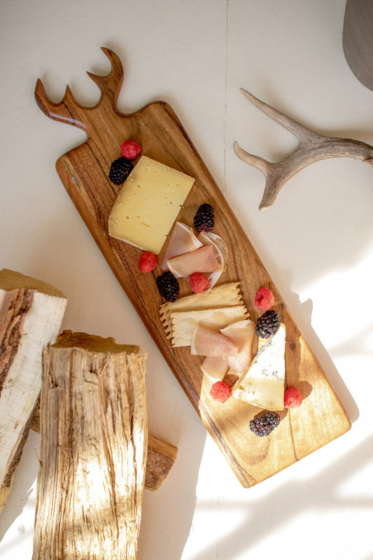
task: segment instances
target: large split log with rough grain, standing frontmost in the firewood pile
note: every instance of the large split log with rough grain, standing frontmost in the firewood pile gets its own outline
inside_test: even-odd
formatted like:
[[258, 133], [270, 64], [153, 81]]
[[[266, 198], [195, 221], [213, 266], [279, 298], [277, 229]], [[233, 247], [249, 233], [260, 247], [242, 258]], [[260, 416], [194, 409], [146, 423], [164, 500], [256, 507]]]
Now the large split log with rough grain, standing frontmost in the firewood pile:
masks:
[[84, 333], [44, 349], [33, 560], [137, 558], [145, 362], [139, 346]]

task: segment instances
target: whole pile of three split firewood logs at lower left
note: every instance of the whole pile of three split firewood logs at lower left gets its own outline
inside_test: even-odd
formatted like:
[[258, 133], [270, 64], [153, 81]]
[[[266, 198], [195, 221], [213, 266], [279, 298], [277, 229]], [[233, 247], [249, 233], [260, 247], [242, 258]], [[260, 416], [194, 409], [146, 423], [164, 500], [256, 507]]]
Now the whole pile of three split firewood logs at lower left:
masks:
[[58, 335], [66, 303], [47, 283], [0, 271], [0, 513], [33, 428], [33, 560], [135, 560], [143, 489], [159, 488], [178, 450], [148, 435], [139, 346]]

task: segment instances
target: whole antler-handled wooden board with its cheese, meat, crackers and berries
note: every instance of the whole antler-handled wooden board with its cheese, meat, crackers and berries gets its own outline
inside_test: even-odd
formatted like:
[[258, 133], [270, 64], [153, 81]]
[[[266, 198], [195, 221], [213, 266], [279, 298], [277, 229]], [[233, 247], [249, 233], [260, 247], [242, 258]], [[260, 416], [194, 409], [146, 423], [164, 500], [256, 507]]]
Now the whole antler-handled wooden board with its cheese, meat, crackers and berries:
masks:
[[[66, 88], [46, 116], [79, 127], [57, 172], [123, 290], [243, 486], [351, 427], [230, 205], [165, 102], [120, 113], [120, 59], [94, 107]], [[258, 437], [265, 436], [265, 437]]]

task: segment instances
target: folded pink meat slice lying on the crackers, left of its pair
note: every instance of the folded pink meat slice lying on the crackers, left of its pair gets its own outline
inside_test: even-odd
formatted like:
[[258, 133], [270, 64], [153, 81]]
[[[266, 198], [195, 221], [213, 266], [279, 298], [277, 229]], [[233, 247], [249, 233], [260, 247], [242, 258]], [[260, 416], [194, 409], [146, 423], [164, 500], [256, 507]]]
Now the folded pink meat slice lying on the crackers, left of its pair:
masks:
[[195, 328], [190, 347], [190, 353], [193, 355], [228, 358], [236, 356], [237, 352], [237, 344], [217, 330], [200, 323]]

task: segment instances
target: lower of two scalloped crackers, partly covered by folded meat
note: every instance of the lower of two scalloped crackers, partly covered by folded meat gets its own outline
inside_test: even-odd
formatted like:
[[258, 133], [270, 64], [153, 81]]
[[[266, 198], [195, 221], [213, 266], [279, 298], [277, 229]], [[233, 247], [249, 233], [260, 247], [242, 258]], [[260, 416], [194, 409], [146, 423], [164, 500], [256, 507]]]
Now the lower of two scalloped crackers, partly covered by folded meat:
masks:
[[220, 330], [230, 323], [242, 321], [248, 317], [245, 305], [217, 309], [199, 309], [198, 311], [177, 311], [171, 313], [172, 346], [190, 346], [193, 333], [198, 323]]

